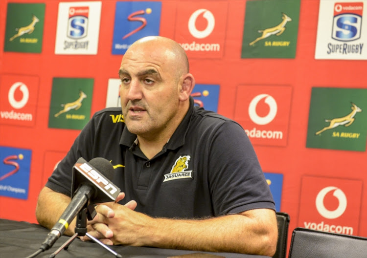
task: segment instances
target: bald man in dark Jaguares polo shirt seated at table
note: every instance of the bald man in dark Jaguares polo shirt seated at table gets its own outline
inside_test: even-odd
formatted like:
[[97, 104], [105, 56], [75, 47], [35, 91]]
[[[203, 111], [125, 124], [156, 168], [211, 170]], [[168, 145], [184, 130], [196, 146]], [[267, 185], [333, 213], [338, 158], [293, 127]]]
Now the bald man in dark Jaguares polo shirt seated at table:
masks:
[[194, 106], [184, 49], [142, 38], [118, 74], [124, 123], [111, 119], [119, 108], [93, 115], [39, 195], [39, 223], [51, 228], [68, 206], [76, 160], [104, 157], [122, 193], [88, 221], [103, 243], [273, 256], [275, 204], [256, 154], [240, 125]]

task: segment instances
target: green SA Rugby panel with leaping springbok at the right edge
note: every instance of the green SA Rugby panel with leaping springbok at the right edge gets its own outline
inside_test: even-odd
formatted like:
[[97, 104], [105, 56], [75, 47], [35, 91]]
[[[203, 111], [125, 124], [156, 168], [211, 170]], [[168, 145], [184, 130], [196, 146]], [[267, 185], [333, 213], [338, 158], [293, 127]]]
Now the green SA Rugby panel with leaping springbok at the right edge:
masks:
[[367, 89], [313, 87], [307, 148], [366, 151]]

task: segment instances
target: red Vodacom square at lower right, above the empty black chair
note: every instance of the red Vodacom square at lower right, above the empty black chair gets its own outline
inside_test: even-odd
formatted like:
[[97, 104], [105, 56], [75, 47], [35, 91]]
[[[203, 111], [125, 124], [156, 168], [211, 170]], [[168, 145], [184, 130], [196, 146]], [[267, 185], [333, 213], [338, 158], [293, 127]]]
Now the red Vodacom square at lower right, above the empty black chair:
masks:
[[358, 235], [362, 180], [303, 176], [298, 226]]

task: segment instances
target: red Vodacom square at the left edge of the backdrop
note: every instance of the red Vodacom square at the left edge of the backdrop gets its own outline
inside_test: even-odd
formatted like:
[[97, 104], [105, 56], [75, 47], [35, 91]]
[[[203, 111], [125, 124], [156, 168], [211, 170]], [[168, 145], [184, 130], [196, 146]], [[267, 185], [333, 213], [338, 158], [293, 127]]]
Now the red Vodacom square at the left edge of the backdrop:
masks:
[[2, 75], [0, 81], [0, 123], [34, 126], [39, 78]]

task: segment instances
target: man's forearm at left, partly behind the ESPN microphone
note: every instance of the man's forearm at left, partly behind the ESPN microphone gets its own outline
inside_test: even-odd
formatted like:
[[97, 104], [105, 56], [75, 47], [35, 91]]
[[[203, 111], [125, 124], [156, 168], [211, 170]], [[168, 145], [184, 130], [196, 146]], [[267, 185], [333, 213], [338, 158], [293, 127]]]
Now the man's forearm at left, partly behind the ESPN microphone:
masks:
[[[71, 198], [65, 194], [60, 194], [44, 187], [38, 197], [36, 207], [36, 218], [40, 225], [51, 229], [65, 209], [68, 207]], [[65, 235], [74, 234], [75, 219], [70, 223]]]

